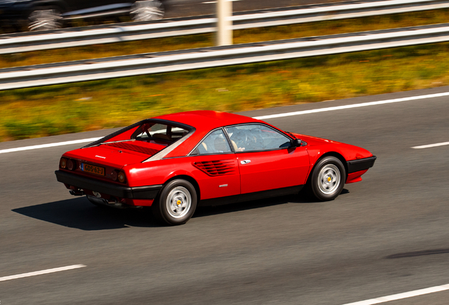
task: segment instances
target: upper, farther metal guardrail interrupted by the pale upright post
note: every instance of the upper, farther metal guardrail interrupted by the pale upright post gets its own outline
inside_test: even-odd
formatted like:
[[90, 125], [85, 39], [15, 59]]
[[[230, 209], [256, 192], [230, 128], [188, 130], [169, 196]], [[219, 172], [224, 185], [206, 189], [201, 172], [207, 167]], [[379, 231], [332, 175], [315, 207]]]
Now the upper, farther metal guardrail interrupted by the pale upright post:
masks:
[[[449, 8], [449, 0], [388, 0], [367, 1], [364, 3], [348, 1], [337, 4], [271, 8], [234, 13], [232, 22], [233, 29], [239, 30], [390, 13], [425, 11], [436, 8]], [[27, 32], [0, 35], [0, 54], [202, 34], [215, 32], [216, 23], [217, 19], [213, 16], [202, 16], [200, 18], [164, 19], [150, 23], [122, 23], [68, 28], [45, 31], [39, 34]]]

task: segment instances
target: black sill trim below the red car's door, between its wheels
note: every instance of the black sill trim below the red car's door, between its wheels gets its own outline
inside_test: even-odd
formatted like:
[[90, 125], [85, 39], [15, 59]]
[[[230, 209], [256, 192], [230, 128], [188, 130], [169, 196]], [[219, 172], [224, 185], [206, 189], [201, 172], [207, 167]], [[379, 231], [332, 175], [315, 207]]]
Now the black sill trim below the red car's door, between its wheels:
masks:
[[285, 196], [290, 195], [294, 193], [299, 193], [301, 189], [303, 188], [303, 185], [300, 186], [289, 186], [282, 189], [272, 189], [268, 191], [258, 191], [254, 193], [244, 193], [240, 195], [233, 195], [233, 196], [226, 196], [226, 197], [219, 197], [219, 198], [211, 198], [211, 199], [205, 199], [199, 202], [199, 206], [205, 206], [205, 205], [223, 205], [228, 203], [237, 203], [242, 201], [253, 201], [257, 199], [263, 199], [263, 198], [270, 198], [270, 197], [276, 197], [276, 196]]

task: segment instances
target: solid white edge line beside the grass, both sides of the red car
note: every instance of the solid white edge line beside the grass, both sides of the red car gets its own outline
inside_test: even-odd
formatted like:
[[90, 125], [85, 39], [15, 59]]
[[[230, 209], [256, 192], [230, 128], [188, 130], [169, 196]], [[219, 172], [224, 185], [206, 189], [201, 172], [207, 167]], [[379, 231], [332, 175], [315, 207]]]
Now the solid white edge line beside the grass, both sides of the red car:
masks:
[[[383, 100], [383, 101], [377, 101], [377, 102], [366, 102], [366, 103], [361, 103], [361, 104], [350, 104], [350, 105], [346, 105], [346, 106], [311, 109], [311, 110], [304, 110], [301, 112], [287, 112], [287, 113], [283, 113], [283, 114], [270, 114], [270, 115], [266, 115], [266, 116], [254, 116], [253, 119], [262, 119], [262, 120], [263, 119], [274, 119], [274, 118], [283, 117], [283, 116], [294, 116], [294, 115], [311, 114], [311, 113], [317, 113], [317, 112], [328, 112], [328, 111], [333, 111], [333, 110], [375, 106], [378, 104], [390, 104], [390, 103], [394, 103], [394, 102], [407, 102], [410, 100], [422, 100], [422, 99], [426, 99], [426, 98], [443, 97], [443, 96], [448, 96], [448, 95], [449, 95], [449, 92], [443, 92], [443, 93], [436, 93], [433, 95], [419, 95], [416, 97], [402, 97], [402, 98], [394, 99], [394, 100]], [[84, 139], [84, 140], [73, 140], [73, 141], [66, 141], [66, 142], [59, 142], [59, 143], [26, 146], [26, 147], [22, 147], [22, 148], [9, 148], [6, 150], [0, 150], [0, 153], [16, 152], [16, 151], [21, 151], [21, 150], [32, 150], [32, 149], [37, 149], [37, 148], [49, 148], [49, 147], [54, 147], [54, 146], [70, 145], [70, 144], [85, 143], [85, 142], [93, 142], [98, 139], [100, 139], [100, 138], [88, 138], [88, 139]]]

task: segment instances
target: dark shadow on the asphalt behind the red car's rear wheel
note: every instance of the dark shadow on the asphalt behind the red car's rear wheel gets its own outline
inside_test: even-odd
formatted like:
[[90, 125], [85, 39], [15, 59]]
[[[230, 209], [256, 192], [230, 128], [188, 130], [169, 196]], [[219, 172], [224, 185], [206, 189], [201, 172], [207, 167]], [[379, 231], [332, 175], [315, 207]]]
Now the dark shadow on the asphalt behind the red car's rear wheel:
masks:
[[150, 210], [101, 208], [92, 205], [85, 197], [31, 205], [14, 209], [13, 212], [86, 231], [126, 227], [160, 227], [152, 217]]

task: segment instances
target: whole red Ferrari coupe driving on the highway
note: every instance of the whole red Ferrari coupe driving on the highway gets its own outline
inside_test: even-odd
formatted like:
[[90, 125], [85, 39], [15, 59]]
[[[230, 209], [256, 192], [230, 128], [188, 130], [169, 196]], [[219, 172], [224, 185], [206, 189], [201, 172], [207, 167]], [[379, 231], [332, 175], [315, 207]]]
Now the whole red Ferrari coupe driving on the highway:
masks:
[[376, 157], [353, 145], [288, 133], [213, 111], [145, 119], [62, 155], [58, 181], [95, 205], [151, 206], [168, 225], [197, 205], [298, 193], [336, 198]]

